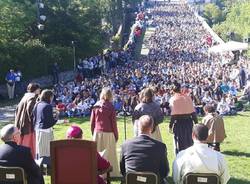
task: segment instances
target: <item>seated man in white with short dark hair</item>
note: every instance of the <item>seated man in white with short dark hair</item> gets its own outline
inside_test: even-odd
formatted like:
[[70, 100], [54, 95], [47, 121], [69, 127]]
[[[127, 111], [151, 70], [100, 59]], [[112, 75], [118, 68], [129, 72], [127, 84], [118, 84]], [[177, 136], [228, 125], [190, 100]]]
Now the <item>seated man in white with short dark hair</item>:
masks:
[[226, 184], [230, 179], [224, 156], [208, 147], [207, 137], [208, 128], [205, 125], [194, 125], [194, 145], [179, 152], [173, 163], [173, 180], [176, 184], [183, 184], [187, 173], [214, 173], [219, 176], [221, 184]]

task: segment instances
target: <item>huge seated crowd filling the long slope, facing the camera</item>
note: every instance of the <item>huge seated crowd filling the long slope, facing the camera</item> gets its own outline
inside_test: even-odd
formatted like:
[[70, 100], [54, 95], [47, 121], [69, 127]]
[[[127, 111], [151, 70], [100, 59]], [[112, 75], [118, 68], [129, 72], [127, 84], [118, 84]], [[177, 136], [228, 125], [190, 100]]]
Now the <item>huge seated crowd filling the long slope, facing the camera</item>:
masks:
[[[190, 94], [200, 115], [205, 114], [206, 104], [216, 106], [221, 115], [243, 109], [238, 96], [246, 88], [244, 95], [249, 100], [246, 58], [242, 57], [235, 65], [223, 65], [219, 55], [208, 54], [208, 48], [215, 43], [187, 5], [159, 5], [150, 12], [155, 33], [146, 40], [149, 55], [134, 61], [130, 52], [110, 51], [103, 60], [101, 56], [81, 60], [78, 69], [83, 75], [77, 75], [74, 82], [55, 86], [63, 115], [90, 115], [102, 86], [111, 86], [118, 113], [123, 110], [132, 113], [139, 103], [138, 92], [153, 86], [156, 101], [169, 114], [174, 81], [181, 84], [184, 93]], [[104, 64], [93, 64], [97, 61]]]

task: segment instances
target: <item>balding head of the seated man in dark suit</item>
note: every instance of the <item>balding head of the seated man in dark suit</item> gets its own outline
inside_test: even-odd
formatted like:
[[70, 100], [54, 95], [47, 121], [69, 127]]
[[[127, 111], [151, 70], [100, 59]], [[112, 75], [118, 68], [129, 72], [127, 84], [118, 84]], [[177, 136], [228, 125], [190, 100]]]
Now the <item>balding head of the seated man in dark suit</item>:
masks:
[[150, 134], [153, 130], [154, 120], [152, 116], [143, 115], [139, 118], [139, 130], [141, 134]]

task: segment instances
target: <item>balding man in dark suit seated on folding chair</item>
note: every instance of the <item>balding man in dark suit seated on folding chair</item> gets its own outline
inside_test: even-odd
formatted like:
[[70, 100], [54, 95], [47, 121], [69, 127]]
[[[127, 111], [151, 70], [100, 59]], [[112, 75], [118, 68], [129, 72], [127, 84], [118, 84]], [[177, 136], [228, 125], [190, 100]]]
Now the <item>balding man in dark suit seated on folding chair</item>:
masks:
[[158, 176], [159, 183], [163, 184], [169, 173], [167, 148], [150, 137], [153, 124], [153, 118], [149, 115], [139, 118], [139, 136], [122, 145], [120, 170], [123, 176], [128, 172], [153, 172]]

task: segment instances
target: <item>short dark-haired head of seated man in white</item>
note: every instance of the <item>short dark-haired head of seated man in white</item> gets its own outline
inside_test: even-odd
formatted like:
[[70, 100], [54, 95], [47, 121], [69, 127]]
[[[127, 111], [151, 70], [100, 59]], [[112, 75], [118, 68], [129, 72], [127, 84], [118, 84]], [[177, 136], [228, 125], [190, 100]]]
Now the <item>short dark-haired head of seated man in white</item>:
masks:
[[204, 124], [198, 123], [193, 127], [193, 139], [200, 142], [205, 142], [208, 137], [208, 127]]

